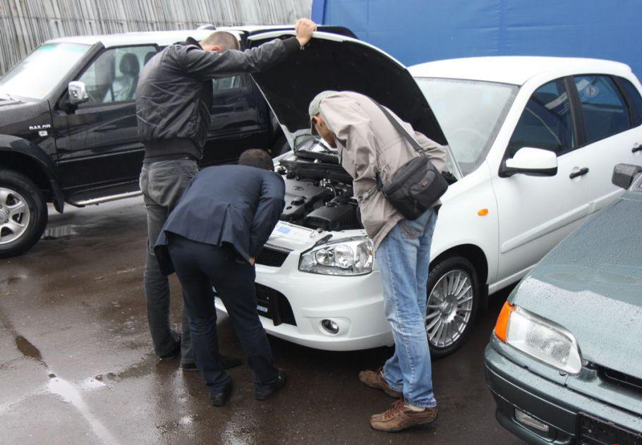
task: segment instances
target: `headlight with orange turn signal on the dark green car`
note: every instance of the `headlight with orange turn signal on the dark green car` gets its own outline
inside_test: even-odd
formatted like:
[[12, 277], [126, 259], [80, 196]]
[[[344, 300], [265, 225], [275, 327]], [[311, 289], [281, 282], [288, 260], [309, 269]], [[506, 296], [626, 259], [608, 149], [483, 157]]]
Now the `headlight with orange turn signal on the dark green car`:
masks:
[[521, 307], [504, 304], [495, 335], [504, 343], [569, 374], [579, 374], [582, 358], [573, 334]]

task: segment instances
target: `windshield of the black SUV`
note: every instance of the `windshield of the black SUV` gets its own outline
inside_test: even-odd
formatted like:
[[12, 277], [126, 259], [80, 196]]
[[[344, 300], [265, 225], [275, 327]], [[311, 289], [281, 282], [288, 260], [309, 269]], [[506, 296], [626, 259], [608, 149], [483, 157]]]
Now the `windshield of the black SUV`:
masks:
[[0, 95], [43, 99], [89, 49], [76, 43], [40, 45], [0, 78]]

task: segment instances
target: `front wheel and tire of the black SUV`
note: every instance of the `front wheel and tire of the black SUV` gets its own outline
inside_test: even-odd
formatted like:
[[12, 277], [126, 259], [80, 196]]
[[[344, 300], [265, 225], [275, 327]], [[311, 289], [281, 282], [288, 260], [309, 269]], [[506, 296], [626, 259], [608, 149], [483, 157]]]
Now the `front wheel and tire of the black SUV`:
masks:
[[30, 178], [0, 169], [0, 206], [0, 258], [15, 257], [40, 240], [47, 226], [47, 202]]

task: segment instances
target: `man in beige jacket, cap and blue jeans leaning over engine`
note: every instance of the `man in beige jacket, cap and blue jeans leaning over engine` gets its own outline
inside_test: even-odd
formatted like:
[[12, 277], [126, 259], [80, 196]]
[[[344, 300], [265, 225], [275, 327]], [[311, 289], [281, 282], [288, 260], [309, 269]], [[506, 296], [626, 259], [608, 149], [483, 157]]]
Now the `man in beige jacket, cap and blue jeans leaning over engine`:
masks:
[[[377, 189], [375, 174], [379, 171], [387, 183], [399, 167], [419, 154], [364, 95], [322, 92], [310, 103], [309, 111], [313, 133], [339, 150], [341, 166], [353, 178], [361, 221], [374, 243], [386, 317], [392, 325], [394, 355], [379, 370], [362, 371], [359, 379], [399, 400], [384, 413], [370, 417], [370, 425], [387, 432], [425, 425], [437, 417], [425, 331], [430, 243], [437, 212], [433, 207], [418, 219], [404, 219]], [[442, 171], [444, 147], [390, 114]]]

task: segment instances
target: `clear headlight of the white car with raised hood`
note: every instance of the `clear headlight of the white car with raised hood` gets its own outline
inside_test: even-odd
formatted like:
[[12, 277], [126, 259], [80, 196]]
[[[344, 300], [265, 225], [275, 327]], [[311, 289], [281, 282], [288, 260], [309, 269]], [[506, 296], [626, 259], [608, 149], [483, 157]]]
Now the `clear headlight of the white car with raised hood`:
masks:
[[325, 275], [364, 275], [373, 272], [373, 242], [350, 238], [320, 245], [301, 255], [298, 269]]

